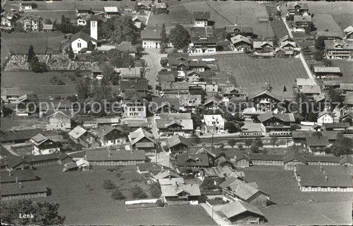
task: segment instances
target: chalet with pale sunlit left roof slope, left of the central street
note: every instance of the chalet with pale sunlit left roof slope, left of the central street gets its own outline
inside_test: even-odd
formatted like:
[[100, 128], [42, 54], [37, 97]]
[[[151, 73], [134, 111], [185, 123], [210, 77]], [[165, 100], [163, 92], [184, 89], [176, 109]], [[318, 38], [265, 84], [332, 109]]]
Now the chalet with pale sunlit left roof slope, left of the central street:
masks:
[[138, 128], [128, 135], [130, 144], [133, 149], [146, 150], [146, 152], [156, 152], [158, 148], [158, 141], [153, 134], [145, 129]]

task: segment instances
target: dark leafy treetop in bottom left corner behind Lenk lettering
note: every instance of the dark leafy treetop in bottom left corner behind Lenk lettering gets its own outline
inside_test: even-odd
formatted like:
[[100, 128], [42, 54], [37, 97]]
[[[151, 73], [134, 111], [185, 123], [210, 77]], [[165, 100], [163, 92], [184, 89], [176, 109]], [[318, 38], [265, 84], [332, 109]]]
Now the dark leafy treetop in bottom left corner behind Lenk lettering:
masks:
[[[35, 202], [30, 199], [1, 203], [2, 222], [17, 225], [61, 225], [65, 216], [58, 214], [56, 202]], [[19, 214], [32, 213], [33, 218], [19, 218]]]

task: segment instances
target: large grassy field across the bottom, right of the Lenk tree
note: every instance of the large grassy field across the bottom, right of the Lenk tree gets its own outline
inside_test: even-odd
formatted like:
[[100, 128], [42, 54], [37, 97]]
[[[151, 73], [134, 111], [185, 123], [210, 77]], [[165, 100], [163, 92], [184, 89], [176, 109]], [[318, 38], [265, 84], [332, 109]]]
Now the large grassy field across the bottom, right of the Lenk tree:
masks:
[[[200, 206], [171, 206], [164, 208], [127, 210], [123, 201], [111, 199], [110, 191], [102, 188], [102, 180], [110, 179], [119, 186], [124, 195], [131, 197], [129, 188], [138, 184], [145, 191], [143, 181], [131, 182], [142, 175], [135, 173], [136, 166], [121, 168], [122, 178], [116, 172], [107, 172], [108, 167], [97, 167], [90, 172], [66, 172], [63, 166], [38, 167], [35, 171], [52, 195], [33, 201], [55, 201], [60, 204], [59, 213], [66, 216], [66, 224], [80, 225], [215, 225], [216, 223]], [[129, 197], [130, 196], [130, 197]]]

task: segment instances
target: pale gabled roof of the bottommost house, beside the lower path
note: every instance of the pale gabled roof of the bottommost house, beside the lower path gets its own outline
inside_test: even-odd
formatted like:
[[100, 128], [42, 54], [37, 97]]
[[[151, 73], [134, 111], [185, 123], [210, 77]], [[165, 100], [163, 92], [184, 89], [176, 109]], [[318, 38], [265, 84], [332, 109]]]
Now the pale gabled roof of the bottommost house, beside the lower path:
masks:
[[236, 200], [232, 203], [222, 206], [221, 211], [228, 218], [237, 216], [244, 212], [251, 212], [260, 216], [265, 216], [256, 206], [253, 206], [251, 204], [248, 204], [239, 200]]

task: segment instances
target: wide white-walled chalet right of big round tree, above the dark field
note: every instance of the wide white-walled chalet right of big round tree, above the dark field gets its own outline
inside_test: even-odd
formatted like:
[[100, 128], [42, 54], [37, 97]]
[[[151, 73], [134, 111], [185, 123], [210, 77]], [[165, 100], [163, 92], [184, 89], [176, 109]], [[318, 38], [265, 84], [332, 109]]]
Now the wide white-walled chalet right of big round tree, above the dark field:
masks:
[[191, 37], [189, 44], [190, 53], [214, 53], [217, 51], [218, 38], [210, 37]]

